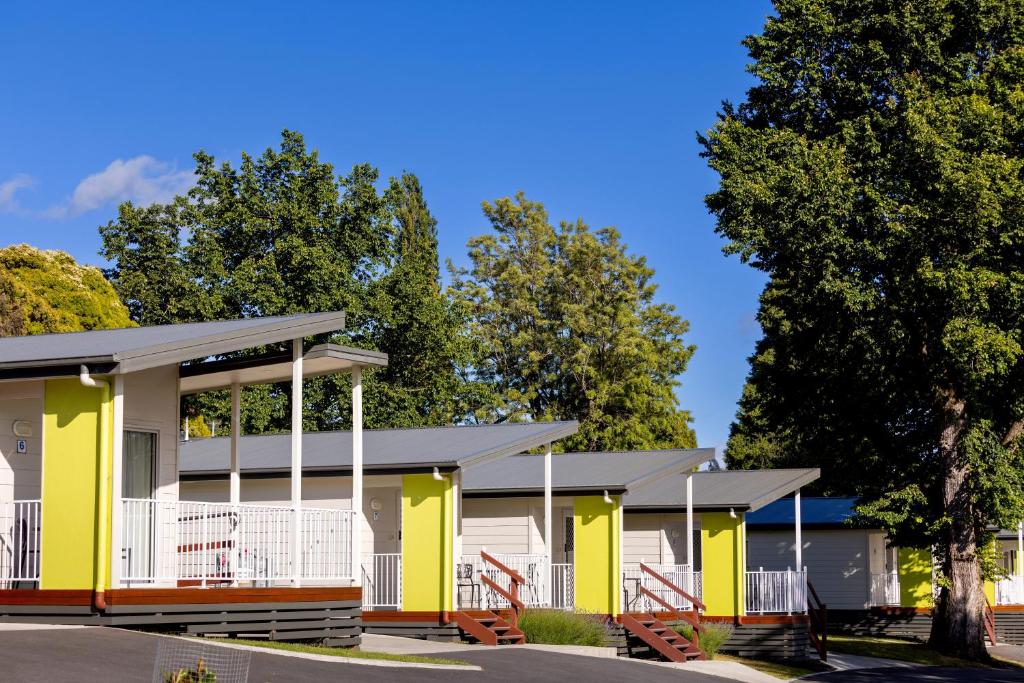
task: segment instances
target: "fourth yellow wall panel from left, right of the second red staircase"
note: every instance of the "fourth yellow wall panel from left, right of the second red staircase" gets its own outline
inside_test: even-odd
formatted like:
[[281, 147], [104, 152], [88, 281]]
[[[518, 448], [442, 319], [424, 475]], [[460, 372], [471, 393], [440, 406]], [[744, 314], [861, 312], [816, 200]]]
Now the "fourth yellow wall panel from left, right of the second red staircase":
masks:
[[700, 515], [700, 559], [703, 602], [709, 616], [740, 616], [745, 612], [743, 589], [743, 517], [728, 512]]

